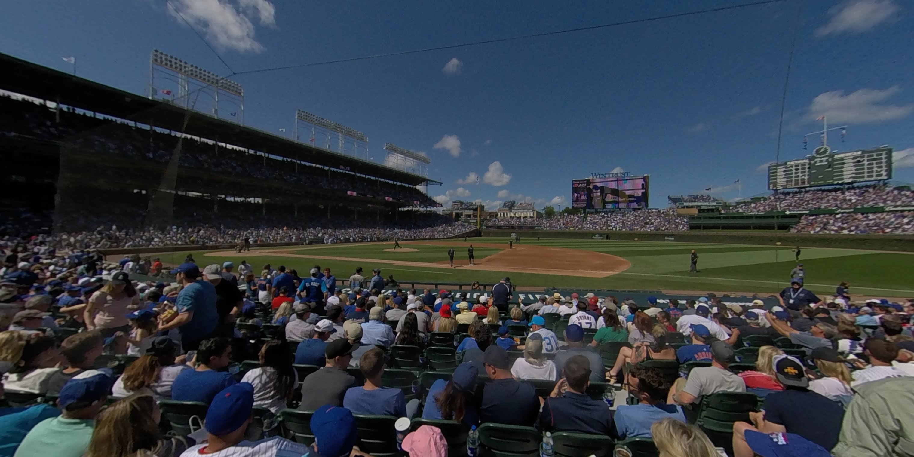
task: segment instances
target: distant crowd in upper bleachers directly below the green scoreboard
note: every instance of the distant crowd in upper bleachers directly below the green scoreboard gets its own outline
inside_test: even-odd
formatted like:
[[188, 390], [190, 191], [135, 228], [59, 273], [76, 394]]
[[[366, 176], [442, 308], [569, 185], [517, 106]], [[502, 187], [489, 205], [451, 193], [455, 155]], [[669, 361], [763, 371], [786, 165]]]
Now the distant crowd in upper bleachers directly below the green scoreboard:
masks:
[[726, 212], [847, 209], [854, 207], [911, 207], [914, 191], [889, 186], [851, 186], [779, 192], [765, 199], [737, 205]]

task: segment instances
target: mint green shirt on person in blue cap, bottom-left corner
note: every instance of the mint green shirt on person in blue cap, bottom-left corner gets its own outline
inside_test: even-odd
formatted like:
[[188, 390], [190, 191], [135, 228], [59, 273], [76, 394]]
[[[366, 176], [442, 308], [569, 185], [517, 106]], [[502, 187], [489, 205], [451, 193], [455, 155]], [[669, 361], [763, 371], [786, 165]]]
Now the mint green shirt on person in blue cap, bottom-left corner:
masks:
[[89, 448], [94, 428], [95, 420], [90, 419], [67, 419], [58, 416], [43, 420], [28, 432], [14, 457], [82, 457]]

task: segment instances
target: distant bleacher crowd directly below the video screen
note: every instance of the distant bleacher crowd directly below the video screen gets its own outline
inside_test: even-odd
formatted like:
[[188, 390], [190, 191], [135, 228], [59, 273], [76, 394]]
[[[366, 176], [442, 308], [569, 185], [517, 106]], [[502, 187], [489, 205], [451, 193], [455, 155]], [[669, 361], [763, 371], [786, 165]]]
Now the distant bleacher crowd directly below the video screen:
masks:
[[620, 211], [588, 215], [556, 214], [552, 218], [494, 218], [487, 227], [536, 226], [547, 230], [685, 231], [688, 218], [675, 210]]

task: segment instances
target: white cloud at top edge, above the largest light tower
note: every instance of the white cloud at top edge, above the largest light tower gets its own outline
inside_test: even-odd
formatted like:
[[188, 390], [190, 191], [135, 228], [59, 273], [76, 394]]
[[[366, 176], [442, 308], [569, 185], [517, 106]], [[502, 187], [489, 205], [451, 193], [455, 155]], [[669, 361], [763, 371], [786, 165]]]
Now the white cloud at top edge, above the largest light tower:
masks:
[[276, 26], [276, 8], [268, 0], [171, 0], [168, 14], [203, 31], [218, 49], [260, 52], [253, 20], [261, 26]]

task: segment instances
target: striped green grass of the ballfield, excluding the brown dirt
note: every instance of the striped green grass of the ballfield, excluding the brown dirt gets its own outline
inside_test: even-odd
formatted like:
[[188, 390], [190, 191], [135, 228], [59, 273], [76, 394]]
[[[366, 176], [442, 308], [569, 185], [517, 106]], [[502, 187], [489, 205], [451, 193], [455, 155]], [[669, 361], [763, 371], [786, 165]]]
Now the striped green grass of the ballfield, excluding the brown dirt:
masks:
[[[476, 238], [473, 243], [505, 244], [502, 238]], [[459, 240], [462, 244], [462, 239]], [[445, 241], [446, 242], [446, 241]], [[421, 268], [394, 266], [377, 262], [370, 264], [352, 260], [314, 260], [270, 255], [246, 258], [255, 272], [265, 263], [275, 268], [285, 265], [303, 274], [315, 263], [329, 267], [337, 278], [348, 277], [361, 266], [365, 271], [381, 268], [387, 277], [393, 274], [399, 282], [420, 283], [470, 283], [498, 282], [508, 274], [516, 286], [575, 287], [593, 289], [638, 289], [675, 290], [696, 292], [759, 292], [776, 293], [787, 285], [790, 271], [795, 266], [791, 248], [783, 246], [745, 246], [732, 244], [696, 244], [674, 241], [622, 241], [592, 239], [524, 239], [525, 245], [535, 244], [592, 250], [622, 257], [632, 262], [632, 267], [607, 278], [581, 278], [565, 275], [517, 273], [505, 271], [469, 271], [461, 269]], [[332, 257], [348, 257], [377, 260], [409, 260], [433, 262], [447, 260], [447, 246], [407, 245], [417, 252], [388, 252], [391, 245], [338, 245], [321, 249], [296, 250], [297, 253]], [[689, 251], [698, 252], [699, 273], [689, 273]], [[455, 248], [456, 260], [466, 259], [464, 247]], [[493, 248], [475, 248], [477, 260], [497, 252]], [[163, 261], [179, 263], [186, 253], [179, 252], [160, 256]], [[221, 263], [239, 257], [204, 257], [195, 253], [200, 265]], [[911, 254], [878, 252], [872, 250], [846, 250], [826, 248], [804, 248], [802, 263], [807, 271], [806, 287], [813, 292], [834, 293], [839, 282], [850, 282], [851, 292], [873, 296], [909, 297], [914, 296], [914, 282], [911, 281], [909, 263]], [[523, 265], [525, 267], [548, 268], [548, 265]]]

